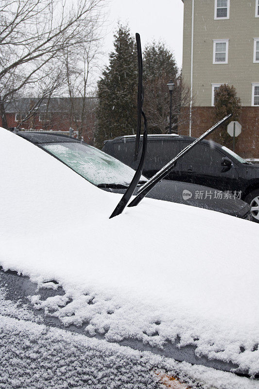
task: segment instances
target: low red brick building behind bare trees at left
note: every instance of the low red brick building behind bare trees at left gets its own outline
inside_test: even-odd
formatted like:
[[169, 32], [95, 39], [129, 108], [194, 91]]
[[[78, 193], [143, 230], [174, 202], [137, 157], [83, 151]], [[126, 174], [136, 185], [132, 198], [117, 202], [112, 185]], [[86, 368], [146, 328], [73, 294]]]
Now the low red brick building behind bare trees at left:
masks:
[[[43, 131], [69, 131], [72, 127], [93, 142], [95, 128], [95, 108], [97, 99], [89, 97], [83, 106], [83, 99], [53, 97], [39, 101], [35, 98], [20, 98], [5, 104], [9, 128], [34, 129]], [[1, 118], [0, 118], [1, 125]]]

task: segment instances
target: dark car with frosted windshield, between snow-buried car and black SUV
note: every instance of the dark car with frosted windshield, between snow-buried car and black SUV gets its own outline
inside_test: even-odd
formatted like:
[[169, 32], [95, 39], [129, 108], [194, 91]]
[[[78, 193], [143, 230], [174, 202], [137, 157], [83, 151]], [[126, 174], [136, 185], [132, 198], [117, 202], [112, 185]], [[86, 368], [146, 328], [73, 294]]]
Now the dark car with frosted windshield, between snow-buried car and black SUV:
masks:
[[[42, 148], [104, 191], [122, 195], [134, 176], [134, 170], [118, 159], [66, 135], [26, 131], [18, 131], [17, 135]], [[146, 180], [145, 177], [141, 177], [137, 190]], [[195, 196], [201, 192], [211, 195], [207, 198]], [[219, 198], [216, 190], [201, 185], [162, 180], [147, 197], [206, 208], [251, 220], [251, 207], [244, 201], [237, 198]]]

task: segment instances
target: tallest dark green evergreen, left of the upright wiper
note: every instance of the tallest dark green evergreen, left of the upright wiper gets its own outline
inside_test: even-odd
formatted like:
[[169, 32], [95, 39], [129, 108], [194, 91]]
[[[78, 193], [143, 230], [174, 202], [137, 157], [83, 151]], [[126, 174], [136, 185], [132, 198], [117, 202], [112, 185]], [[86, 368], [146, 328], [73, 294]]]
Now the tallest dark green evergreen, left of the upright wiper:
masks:
[[114, 52], [98, 82], [95, 145], [106, 139], [135, 133], [137, 125], [138, 62], [134, 39], [128, 27], [119, 25]]

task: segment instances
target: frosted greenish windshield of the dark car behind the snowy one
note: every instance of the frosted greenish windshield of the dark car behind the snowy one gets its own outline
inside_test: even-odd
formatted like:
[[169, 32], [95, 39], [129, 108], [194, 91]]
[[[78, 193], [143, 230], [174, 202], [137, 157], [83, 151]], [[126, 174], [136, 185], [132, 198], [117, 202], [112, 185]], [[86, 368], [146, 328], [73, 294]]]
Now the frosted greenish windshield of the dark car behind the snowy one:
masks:
[[[128, 185], [135, 171], [95, 147], [78, 142], [45, 143], [46, 150], [94, 185]], [[146, 180], [141, 177], [141, 180]]]

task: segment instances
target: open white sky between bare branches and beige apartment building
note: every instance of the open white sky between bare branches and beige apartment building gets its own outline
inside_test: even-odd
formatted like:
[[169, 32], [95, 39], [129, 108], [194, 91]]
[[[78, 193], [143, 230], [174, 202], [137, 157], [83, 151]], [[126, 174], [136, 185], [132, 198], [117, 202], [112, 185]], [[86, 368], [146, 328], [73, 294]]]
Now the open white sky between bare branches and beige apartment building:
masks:
[[113, 35], [118, 20], [128, 23], [132, 35], [140, 34], [142, 50], [145, 45], [163, 41], [173, 51], [178, 67], [182, 66], [183, 2], [182, 0], [109, 0], [108, 28], [104, 38], [105, 64], [113, 51]]

